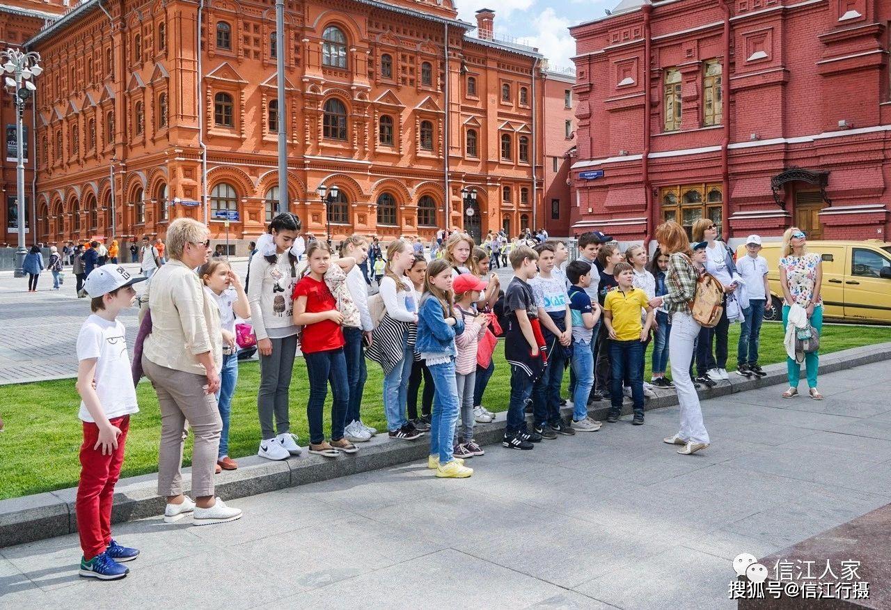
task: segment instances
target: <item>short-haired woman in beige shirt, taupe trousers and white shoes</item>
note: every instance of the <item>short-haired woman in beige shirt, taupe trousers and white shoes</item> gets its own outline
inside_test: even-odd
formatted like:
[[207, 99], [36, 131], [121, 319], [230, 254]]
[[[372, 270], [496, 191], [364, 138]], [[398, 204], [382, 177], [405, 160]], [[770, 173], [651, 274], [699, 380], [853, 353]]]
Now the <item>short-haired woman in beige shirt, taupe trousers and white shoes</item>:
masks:
[[[161, 412], [158, 493], [167, 498], [164, 521], [194, 512], [195, 525], [225, 523], [241, 510], [214, 497], [214, 471], [223, 423], [215, 394], [220, 386], [223, 334], [219, 310], [192, 270], [208, 261], [208, 227], [177, 218], [167, 234], [168, 264], [148, 288], [151, 334], [143, 345], [143, 370], [151, 380]], [[184, 427], [195, 436], [192, 495], [183, 495]]]

